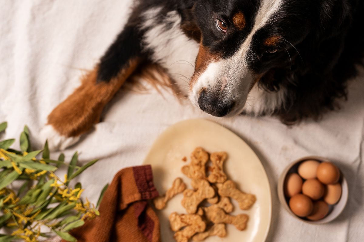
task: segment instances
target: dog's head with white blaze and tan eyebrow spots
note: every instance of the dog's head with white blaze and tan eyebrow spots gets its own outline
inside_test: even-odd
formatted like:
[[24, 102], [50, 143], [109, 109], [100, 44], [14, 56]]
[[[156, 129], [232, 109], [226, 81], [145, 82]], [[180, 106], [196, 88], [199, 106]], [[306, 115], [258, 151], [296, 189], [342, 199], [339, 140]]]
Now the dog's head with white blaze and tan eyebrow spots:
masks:
[[289, 68], [290, 58], [294, 58], [289, 51], [315, 24], [317, 2], [196, 3], [193, 14], [201, 30], [201, 43], [190, 81], [191, 101], [214, 116], [239, 114], [249, 91], [265, 73], [284, 65]]

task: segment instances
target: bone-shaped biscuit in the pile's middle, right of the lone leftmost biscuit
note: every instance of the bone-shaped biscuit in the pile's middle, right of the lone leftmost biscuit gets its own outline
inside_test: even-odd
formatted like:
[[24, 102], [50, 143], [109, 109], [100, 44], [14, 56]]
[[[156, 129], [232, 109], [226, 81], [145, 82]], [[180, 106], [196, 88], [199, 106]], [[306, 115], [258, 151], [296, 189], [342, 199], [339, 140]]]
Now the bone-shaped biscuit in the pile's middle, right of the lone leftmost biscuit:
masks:
[[187, 210], [187, 213], [195, 213], [197, 206], [206, 198], [215, 196], [215, 190], [210, 186], [209, 182], [202, 179], [194, 179], [193, 186], [198, 184], [197, 191], [186, 189], [183, 192], [182, 206]]

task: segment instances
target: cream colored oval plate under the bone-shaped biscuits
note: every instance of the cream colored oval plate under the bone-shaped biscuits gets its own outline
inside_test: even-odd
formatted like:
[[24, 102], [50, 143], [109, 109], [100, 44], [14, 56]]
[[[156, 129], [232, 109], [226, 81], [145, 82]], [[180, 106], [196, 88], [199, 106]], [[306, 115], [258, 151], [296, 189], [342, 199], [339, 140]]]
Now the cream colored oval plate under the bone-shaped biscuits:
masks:
[[[225, 171], [229, 179], [238, 187], [257, 197], [256, 203], [249, 210], [241, 210], [236, 201], [233, 215], [249, 215], [248, 227], [244, 231], [233, 225], [227, 226], [227, 237], [210, 237], [205, 242], [215, 241], [265, 241], [269, 231], [272, 214], [272, 199], [268, 177], [253, 150], [236, 134], [214, 122], [204, 119], [186, 120], [167, 128], [155, 141], [144, 163], [151, 164], [154, 184], [160, 193], [164, 193], [176, 177], [188, 184], [190, 179], [183, 175], [181, 167], [190, 162], [190, 153], [195, 147], [202, 147], [207, 152], [226, 151], [228, 159]], [[187, 162], [182, 158], [186, 156]], [[178, 194], [170, 200], [165, 209], [157, 211], [161, 221], [162, 242], [172, 242], [173, 231], [169, 228], [168, 216], [172, 212], [186, 213], [181, 205], [183, 195]]]

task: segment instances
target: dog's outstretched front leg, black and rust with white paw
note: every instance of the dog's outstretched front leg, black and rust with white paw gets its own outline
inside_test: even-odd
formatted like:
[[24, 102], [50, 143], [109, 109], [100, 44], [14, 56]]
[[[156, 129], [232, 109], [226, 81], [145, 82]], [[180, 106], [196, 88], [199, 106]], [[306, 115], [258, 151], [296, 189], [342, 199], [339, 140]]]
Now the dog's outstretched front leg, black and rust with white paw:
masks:
[[127, 24], [94, 70], [51, 112], [41, 131], [50, 149], [65, 149], [99, 122], [105, 105], [143, 60], [141, 35]]

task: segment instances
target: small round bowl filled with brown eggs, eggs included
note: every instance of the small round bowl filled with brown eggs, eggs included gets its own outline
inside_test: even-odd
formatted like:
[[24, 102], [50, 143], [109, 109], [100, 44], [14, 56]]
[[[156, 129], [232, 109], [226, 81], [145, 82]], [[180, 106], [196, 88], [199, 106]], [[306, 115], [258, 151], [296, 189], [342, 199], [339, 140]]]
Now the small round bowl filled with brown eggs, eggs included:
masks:
[[348, 184], [339, 168], [320, 156], [291, 163], [278, 179], [278, 198], [297, 219], [313, 224], [337, 218], [348, 200]]

